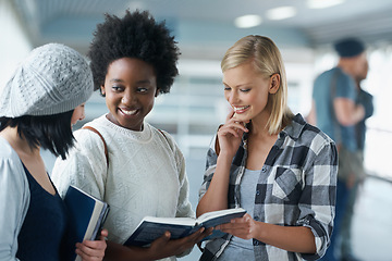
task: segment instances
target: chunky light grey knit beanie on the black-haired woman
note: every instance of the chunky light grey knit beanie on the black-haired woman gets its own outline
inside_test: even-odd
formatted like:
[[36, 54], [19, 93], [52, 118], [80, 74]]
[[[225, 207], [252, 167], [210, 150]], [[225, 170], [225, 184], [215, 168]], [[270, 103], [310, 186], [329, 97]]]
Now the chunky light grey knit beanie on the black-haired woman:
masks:
[[93, 94], [93, 74], [74, 49], [48, 44], [34, 49], [0, 95], [0, 116], [51, 115], [75, 109]]

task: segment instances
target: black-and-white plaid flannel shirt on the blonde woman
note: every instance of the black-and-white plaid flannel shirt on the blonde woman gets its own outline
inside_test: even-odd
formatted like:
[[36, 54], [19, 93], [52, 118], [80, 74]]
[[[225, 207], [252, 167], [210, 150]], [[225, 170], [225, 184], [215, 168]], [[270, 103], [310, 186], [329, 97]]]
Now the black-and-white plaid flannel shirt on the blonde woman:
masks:
[[[206, 173], [199, 199], [212, 179], [217, 154], [213, 138], [207, 153]], [[240, 186], [247, 158], [244, 134], [230, 171], [229, 208], [240, 206]], [[331, 138], [307, 124], [301, 114], [293, 117], [278, 137], [260, 171], [255, 191], [254, 220], [282, 226], [306, 226], [315, 235], [316, 253], [296, 253], [253, 239], [255, 260], [317, 260], [332, 234], [338, 152]], [[200, 260], [216, 260], [231, 235], [208, 241]]]

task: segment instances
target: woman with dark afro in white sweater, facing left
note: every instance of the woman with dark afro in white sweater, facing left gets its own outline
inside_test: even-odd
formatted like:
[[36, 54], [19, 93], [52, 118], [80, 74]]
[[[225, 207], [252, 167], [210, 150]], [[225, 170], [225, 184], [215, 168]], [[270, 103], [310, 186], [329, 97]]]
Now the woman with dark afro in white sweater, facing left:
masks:
[[175, 260], [209, 234], [171, 240], [167, 232], [149, 247], [125, 246], [146, 215], [194, 216], [182, 152], [167, 132], [145, 122], [177, 75], [175, 44], [164, 22], [126, 11], [122, 18], [106, 15], [88, 52], [109, 113], [75, 132], [76, 148], [57, 160], [52, 176], [62, 194], [72, 184], [110, 204], [109, 260]]

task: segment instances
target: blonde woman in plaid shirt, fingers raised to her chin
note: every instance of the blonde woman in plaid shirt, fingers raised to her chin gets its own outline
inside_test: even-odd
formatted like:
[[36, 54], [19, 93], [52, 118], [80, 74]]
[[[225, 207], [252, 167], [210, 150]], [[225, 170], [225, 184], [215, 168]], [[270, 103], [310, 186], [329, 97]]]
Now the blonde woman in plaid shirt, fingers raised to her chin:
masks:
[[207, 156], [197, 215], [242, 207], [244, 217], [216, 229], [200, 260], [316, 260], [333, 227], [336, 149], [287, 108], [274, 42], [247, 36], [221, 62], [232, 110]]

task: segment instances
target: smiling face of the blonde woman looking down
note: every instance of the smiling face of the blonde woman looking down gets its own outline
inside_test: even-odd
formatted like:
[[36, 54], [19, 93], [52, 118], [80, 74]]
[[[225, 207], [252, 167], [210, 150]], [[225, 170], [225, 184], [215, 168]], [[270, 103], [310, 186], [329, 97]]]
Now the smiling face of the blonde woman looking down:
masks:
[[252, 62], [223, 73], [224, 97], [241, 121], [269, 117], [268, 97], [279, 89], [279, 75], [266, 77], [256, 72]]

